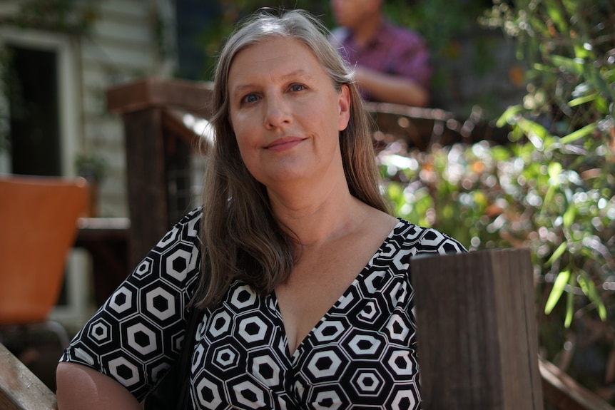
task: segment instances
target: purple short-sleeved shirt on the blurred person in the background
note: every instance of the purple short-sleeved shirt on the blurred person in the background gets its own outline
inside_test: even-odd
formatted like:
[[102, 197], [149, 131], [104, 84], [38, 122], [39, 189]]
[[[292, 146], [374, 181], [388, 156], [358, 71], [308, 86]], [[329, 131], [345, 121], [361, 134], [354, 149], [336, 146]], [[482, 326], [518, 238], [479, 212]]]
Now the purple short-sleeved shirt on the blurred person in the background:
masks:
[[[332, 34], [342, 47], [342, 57], [350, 66], [404, 76], [429, 90], [432, 75], [430, 54], [425, 41], [414, 31], [383, 24], [365, 46], [357, 45], [346, 29], [335, 29]], [[365, 98], [369, 99], [369, 96]]]

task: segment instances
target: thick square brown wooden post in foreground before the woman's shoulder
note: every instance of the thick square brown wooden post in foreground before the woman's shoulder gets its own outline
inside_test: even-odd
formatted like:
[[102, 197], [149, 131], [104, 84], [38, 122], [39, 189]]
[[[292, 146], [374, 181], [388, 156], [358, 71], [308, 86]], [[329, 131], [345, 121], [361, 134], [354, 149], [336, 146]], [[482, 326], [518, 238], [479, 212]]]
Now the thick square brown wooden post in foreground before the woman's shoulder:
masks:
[[415, 257], [425, 410], [542, 410], [529, 250]]

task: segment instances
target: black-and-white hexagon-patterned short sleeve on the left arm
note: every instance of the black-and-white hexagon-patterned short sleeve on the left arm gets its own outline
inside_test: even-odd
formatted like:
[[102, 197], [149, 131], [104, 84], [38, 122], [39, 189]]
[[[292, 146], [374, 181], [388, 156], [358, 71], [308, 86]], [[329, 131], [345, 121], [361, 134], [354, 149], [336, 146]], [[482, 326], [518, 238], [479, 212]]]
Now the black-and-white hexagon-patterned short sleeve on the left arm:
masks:
[[178, 222], [85, 324], [61, 357], [142, 399], [178, 358], [200, 275], [201, 210]]

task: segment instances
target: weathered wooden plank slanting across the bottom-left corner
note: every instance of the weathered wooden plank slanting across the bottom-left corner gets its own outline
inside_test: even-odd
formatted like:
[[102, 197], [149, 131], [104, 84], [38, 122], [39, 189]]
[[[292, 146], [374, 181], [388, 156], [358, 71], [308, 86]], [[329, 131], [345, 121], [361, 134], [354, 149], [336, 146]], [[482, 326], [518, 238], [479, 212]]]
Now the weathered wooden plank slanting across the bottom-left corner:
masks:
[[58, 409], [56, 395], [1, 343], [0, 409]]

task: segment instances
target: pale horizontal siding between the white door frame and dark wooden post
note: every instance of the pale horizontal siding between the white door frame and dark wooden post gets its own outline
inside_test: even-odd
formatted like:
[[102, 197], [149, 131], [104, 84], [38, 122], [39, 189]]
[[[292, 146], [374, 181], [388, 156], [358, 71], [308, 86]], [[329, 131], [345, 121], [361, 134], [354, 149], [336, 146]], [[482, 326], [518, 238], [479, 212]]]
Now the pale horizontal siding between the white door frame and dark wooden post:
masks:
[[128, 216], [123, 125], [106, 111], [105, 91], [143, 76], [171, 76], [173, 51], [161, 50], [155, 34], [161, 16], [168, 32], [173, 30], [168, 1], [101, 1], [91, 34], [81, 40], [83, 150], [101, 155], [108, 165], [98, 216]]

